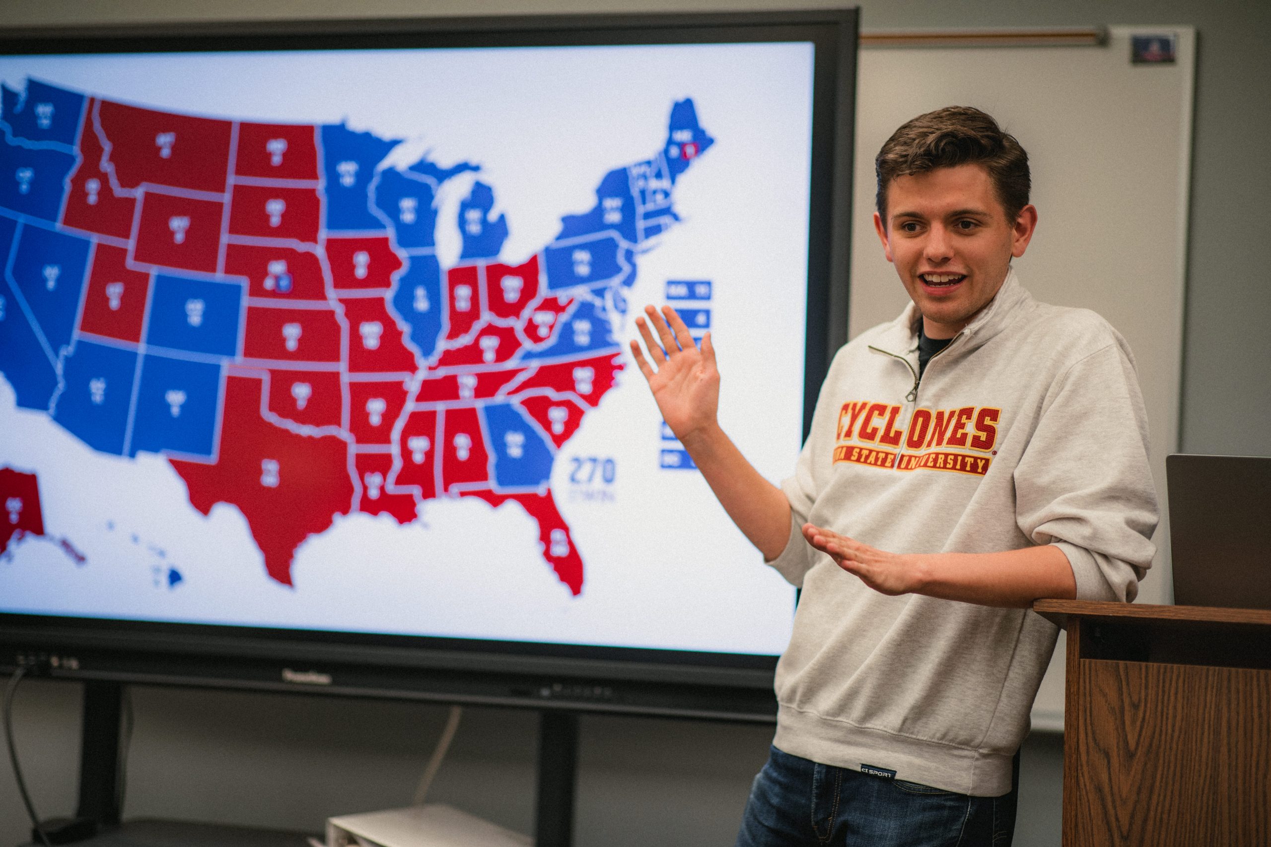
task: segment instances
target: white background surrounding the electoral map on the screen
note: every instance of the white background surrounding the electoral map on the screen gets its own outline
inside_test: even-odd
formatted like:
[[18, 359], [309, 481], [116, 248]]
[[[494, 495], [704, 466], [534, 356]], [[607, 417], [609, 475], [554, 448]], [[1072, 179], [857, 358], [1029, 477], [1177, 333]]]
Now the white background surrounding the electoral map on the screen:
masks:
[[[108, 99], [212, 117], [346, 121], [472, 161], [438, 199], [442, 265], [473, 179], [494, 189], [501, 260], [544, 246], [561, 216], [595, 203], [613, 168], [649, 157], [671, 104], [691, 97], [716, 143], [681, 177], [683, 222], [639, 258], [632, 312], [667, 279], [710, 279], [724, 429], [768, 479], [794, 465], [803, 401], [812, 46], [341, 51], [0, 58], [27, 76]], [[628, 315], [630, 317], [633, 315]], [[630, 338], [623, 323], [616, 334]], [[658, 467], [660, 417], [625, 354], [619, 382], [562, 447], [552, 488], [585, 563], [571, 596], [515, 504], [430, 500], [399, 527], [339, 517], [296, 552], [294, 588], [268, 579], [236, 508], [208, 517], [159, 456], [98, 453], [46, 414], [15, 409], [0, 377], [0, 466], [37, 472], [48, 540], [0, 560], [0, 610], [140, 620], [777, 654], [793, 588], [765, 568], [693, 471]], [[225, 447], [222, 446], [222, 450]], [[581, 499], [569, 458], [613, 458], [610, 502]], [[249, 484], [249, 481], [245, 481]], [[113, 527], [113, 528], [112, 528]], [[75, 565], [55, 544], [88, 557]], [[163, 551], [160, 556], [159, 551]], [[159, 578], [168, 563], [183, 582]]]

